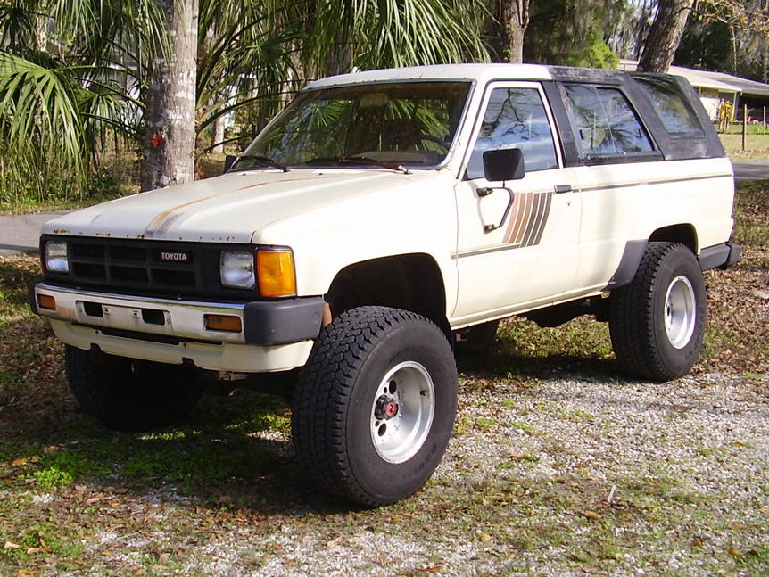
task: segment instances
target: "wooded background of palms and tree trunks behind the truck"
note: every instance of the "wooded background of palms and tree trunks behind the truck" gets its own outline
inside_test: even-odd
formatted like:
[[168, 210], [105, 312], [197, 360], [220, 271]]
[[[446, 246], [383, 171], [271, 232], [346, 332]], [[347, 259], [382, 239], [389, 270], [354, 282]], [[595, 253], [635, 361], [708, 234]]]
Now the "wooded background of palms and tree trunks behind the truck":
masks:
[[0, 0], [0, 200], [186, 182], [330, 74], [618, 58], [766, 81], [769, 0]]

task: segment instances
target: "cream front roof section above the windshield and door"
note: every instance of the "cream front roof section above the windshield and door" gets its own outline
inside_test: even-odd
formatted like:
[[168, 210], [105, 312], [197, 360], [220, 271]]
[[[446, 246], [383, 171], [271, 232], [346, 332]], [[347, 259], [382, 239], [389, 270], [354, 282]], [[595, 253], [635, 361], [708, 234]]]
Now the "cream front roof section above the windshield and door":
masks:
[[509, 80], [550, 80], [550, 72], [539, 64], [436, 64], [351, 72], [322, 78], [306, 88], [332, 87], [359, 82], [393, 80], [476, 80], [479, 83], [504, 78]]

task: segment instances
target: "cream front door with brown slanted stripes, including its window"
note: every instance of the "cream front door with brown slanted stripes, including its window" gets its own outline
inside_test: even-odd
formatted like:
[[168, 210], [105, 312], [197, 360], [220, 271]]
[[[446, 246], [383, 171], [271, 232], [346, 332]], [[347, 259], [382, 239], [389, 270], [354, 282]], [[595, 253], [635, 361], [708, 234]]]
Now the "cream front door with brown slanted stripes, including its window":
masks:
[[[579, 264], [580, 196], [563, 168], [550, 107], [539, 83], [495, 82], [465, 178], [456, 186], [458, 301], [453, 324], [504, 317], [558, 301]], [[525, 177], [489, 182], [483, 153], [519, 148]]]

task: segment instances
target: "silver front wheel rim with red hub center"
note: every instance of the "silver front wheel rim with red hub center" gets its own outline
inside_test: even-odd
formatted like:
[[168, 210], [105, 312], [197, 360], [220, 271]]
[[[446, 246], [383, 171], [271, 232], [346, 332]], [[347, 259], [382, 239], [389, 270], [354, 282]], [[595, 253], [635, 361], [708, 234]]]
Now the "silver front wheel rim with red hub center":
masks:
[[435, 413], [435, 388], [427, 369], [407, 361], [390, 369], [371, 404], [371, 441], [388, 463], [404, 463], [425, 444]]

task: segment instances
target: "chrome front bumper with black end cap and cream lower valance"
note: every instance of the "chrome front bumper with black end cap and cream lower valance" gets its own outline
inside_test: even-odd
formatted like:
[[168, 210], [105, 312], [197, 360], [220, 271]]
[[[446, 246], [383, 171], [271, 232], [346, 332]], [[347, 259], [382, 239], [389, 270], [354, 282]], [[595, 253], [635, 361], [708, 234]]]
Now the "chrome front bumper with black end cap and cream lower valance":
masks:
[[[53, 299], [54, 308], [40, 305]], [[320, 332], [322, 297], [285, 301], [222, 303], [177, 301], [99, 293], [37, 281], [29, 304], [51, 320], [63, 342], [103, 352], [160, 362], [186, 359], [202, 368], [275, 371], [300, 367]], [[240, 319], [240, 331], [206, 327], [205, 316]]]

